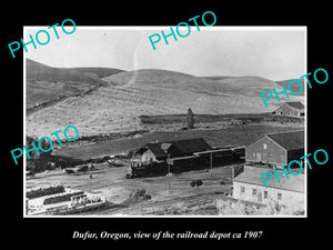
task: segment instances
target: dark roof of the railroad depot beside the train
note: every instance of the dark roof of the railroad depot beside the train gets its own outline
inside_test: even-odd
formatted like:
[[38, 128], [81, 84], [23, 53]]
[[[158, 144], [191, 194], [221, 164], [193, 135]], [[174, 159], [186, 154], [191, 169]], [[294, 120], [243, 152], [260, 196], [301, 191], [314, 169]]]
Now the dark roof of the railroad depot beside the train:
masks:
[[[168, 149], [170, 147], [176, 148], [184, 156], [212, 149], [210, 144], [206, 143], [206, 141], [203, 140], [202, 138], [194, 138], [194, 139], [185, 139], [185, 140], [169, 141], [169, 142], [147, 143], [145, 146], [137, 150], [135, 153], [141, 154], [145, 152], [147, 149], [150, 149], [150, 151], [154, 156], [162, 157], [162, 156], [168, 156]], [[165, 149], [165, 151], [163, 149]]]

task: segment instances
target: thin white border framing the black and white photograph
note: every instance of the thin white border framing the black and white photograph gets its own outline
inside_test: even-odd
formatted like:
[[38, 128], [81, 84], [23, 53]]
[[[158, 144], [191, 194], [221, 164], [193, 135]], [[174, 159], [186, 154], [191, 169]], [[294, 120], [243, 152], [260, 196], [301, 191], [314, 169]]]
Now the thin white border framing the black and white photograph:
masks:
[[[194, 26], [191, 26], [194, 28]], [[27, 41], [27, 29], [34, 28], [48, 28], [46, 26], [23, 26], [23, 40]], [[184, 27], [180, 27], [181, 29]], [[128, 27], [128, 26], [115, 26], [115, 27], [104, 27], [104, 26], [77, 26], [77, 30], [80, 29], [105, 29], [105, 30], [163, 30], [170, 29], [168, 26], [159, 26], [159, 27]], [[214, 26], [214, 27], [201, 27], [200, 30], [223, 30], [223, 31], [304, 31], [304, 74], [307, 73], [307, 26], [251, 26], [251, 27], [242, 27], [242, 26]], [[23, 144], [26, 144], [26, 108], [27, 108], [27, 97], [26, 97], [26, 52], [23, 51]], [[301, 77], [301, 76], [300, 76]], [[305, 88], [305, 154], [307, 154], [307, 88], [304, 82]], [[304, 190], [304, 211], [303, 216], [28, 216], [26, 211], [26, 157], [23, 157], [23, 218], [307, 218], [307, 168], [304, 169], [304, 178], [305, 178], [305, 190]], [[306, 166], [307, 163], [305, 163]]]

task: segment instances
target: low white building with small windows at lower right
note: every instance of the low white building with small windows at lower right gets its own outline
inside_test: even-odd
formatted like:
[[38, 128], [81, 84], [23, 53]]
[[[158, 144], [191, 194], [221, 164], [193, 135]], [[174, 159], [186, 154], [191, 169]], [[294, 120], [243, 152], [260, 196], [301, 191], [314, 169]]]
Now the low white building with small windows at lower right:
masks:
[[[268, 188], [265, 188], [261, 174], [268, 171], [272, 172], [273, 178], [266, 182]], [[281, 170], [275, 171], [278, 174], [281, 172]], [[275, 201], [294, 209], [304, 209], [305, 176], [303, 173], [287, 176], [289, 179], [284, 173], [279, 174], [280, 182], [278, 182], [272, 169], [244, 166], [244, 171], [233, 179], [232, 196], [235, 199], [262, 204]], [[264, 178], [269, 178], [269, 174]]]

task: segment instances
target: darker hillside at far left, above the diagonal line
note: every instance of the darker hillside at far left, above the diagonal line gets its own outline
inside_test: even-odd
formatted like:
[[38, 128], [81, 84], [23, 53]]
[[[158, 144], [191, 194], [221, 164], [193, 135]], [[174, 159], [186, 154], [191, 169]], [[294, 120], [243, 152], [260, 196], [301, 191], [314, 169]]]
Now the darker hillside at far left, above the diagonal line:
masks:
[[83, 94], [104, 84], [100, 78], [120, 70], [108, 68], [53, 68], [27, 59], [27, 110], [53, 103], [67, 97]]

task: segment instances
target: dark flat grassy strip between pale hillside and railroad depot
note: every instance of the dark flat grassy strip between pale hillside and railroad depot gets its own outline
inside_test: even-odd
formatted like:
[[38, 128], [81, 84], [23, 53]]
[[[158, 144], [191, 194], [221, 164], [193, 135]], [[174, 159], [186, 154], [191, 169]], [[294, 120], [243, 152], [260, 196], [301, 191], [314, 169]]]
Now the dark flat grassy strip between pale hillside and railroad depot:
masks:
[[171, 141], [191, 138], [203, 138], [212, 147], [245, 146], [258, 137], [280, 131], [291, 131], [304, 129], [302, 123], [261, 123], [250, 126], [232, 126], [223, 129], [193, 129], [179, 131], [157, 131], [138, 134], [135, 138], [118, 139], [110, 141], [83, 142], [74, 141], [63, 144], [53, 154], [72, 159], [87, 160], [90, 158], [101, 158], [114, 153], [135, 150], [144, 143], [155, 141]]

